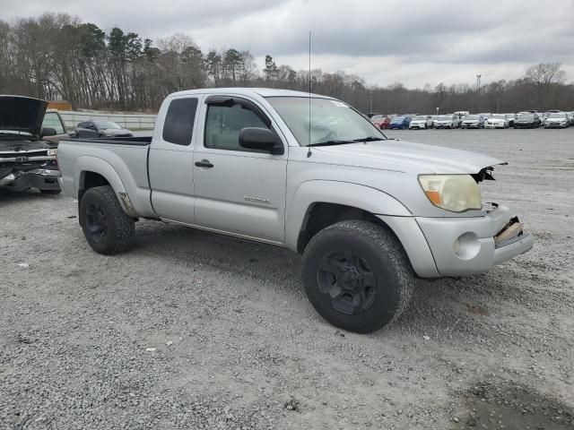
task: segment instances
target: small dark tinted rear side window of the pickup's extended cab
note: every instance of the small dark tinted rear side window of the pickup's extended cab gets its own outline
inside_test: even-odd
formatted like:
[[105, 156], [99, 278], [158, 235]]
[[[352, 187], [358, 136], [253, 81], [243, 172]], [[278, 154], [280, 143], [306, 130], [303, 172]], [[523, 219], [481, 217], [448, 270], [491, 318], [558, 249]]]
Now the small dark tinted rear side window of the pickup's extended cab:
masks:
[[197, 99], [171, 100], [163, 123], [163, 140], [187, 146], [191, 142], [196, 119]]

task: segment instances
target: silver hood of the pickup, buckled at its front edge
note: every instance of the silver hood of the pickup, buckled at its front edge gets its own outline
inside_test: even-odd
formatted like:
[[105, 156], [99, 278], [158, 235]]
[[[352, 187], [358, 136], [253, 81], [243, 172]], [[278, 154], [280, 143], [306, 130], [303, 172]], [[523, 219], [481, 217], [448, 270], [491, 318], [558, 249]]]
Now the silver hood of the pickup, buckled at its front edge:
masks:
[[391, 140], [313, 148], [316, 150], [333, 164], [415, 174], [477, 174], [483, 168], [505, 164], [500, 159], [465, 150]]

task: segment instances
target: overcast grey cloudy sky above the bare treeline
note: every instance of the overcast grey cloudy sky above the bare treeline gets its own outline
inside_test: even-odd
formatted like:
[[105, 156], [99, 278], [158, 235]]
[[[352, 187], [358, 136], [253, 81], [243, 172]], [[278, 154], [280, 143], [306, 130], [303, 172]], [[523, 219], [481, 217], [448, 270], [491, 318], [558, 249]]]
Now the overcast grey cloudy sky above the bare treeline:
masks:
[[369, 84], [483, 83], [560, 62], [574, 80], [574, 0], [0, 0], [0, 19], [77, 15], [157, 39], [184, 32], [204, 52], [248, 49], [296, 70], [356, 73]]

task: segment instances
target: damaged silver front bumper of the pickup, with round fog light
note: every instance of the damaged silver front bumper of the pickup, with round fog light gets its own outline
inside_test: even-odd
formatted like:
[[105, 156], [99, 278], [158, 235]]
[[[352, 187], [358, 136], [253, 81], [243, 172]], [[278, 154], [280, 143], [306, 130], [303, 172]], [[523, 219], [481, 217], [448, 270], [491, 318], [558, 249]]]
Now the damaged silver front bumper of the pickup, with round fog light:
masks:
[[495, 236], [514, 218], [505, 206], [481, 217], [379, 218], [396, 233], [421, 278], [483, 273], [534, 245], [534, 238], [523, 231], [497, 243]]

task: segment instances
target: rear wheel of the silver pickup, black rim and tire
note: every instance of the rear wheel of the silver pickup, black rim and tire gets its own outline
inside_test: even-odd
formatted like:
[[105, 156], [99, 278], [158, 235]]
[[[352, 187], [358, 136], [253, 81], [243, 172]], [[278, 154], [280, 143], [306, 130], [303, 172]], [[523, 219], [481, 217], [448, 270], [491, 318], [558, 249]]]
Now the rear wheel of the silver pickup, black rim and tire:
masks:
[[95, 186], [83, 193], [80, 224], [96, 253], [121, 253], [134, 243], [134, 219], [126, 215], [109, 185]]

